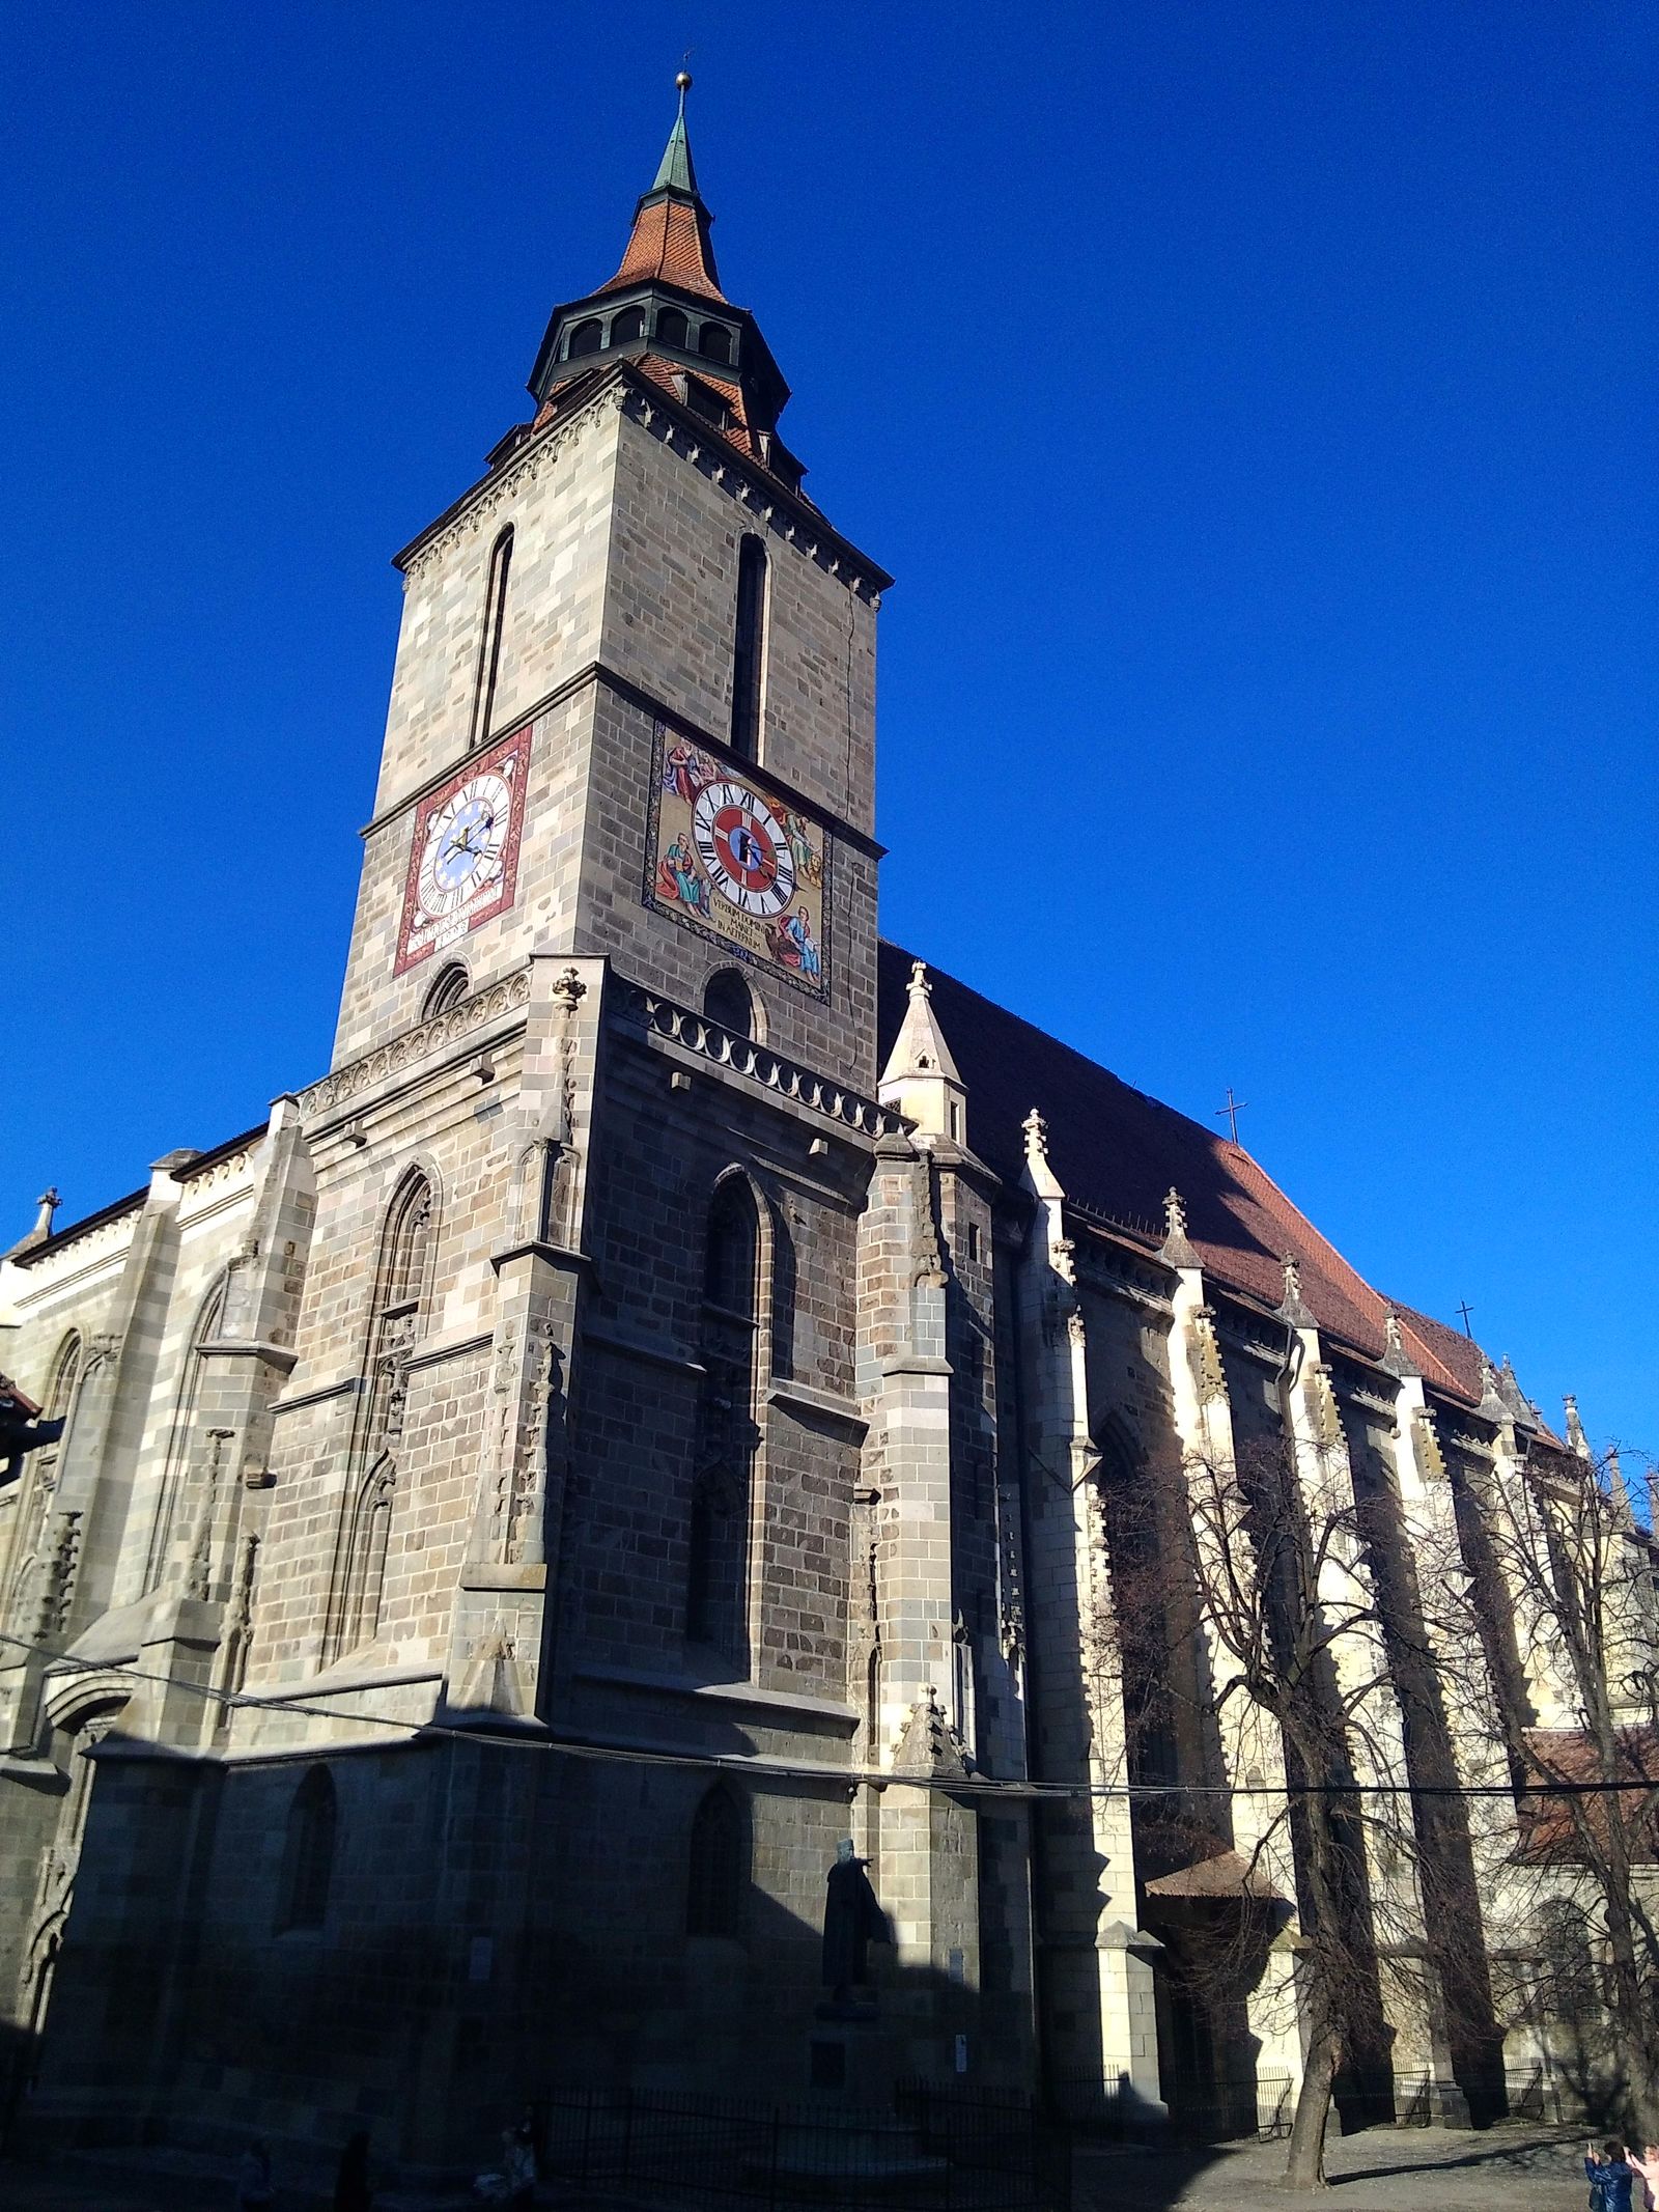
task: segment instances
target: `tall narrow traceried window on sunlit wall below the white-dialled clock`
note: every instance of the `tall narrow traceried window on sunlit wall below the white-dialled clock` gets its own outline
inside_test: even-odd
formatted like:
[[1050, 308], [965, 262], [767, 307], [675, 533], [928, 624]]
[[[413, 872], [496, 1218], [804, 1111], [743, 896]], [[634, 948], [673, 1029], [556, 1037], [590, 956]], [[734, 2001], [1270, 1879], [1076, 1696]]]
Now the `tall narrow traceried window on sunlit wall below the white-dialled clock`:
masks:
[[385, 1562], [403, 1451], [403, 1402], [409, 1352], [420, 1332], [431, 1248], [431, 1183], [418, 1168], [405, 1175], [387, 1210], [367, 1332], [365, 1416], [352, 1455], [341, 1533], [334, 1548], [323, 1663], [343, 1659], [380, 1630]]

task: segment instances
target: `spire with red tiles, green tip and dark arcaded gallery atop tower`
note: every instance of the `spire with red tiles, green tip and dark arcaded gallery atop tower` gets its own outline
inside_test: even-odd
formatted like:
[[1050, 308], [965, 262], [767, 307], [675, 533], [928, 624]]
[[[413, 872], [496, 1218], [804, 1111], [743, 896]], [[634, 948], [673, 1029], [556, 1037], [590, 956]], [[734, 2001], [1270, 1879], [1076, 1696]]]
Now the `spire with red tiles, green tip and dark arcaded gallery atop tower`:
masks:
[[531, 372], [538, 425], [577, 378], [611, 358], [633, 361], [739, 453], [799, 491], [805, 471], [776, 431], [790, 387], [754, 316], [721, 290], [710, 241], [714, 217], [697, 188], [686, 131], [684, 69], [675, 84], [675, 128], [635, 208], [615, 276], [555, 307], [546, 325]]

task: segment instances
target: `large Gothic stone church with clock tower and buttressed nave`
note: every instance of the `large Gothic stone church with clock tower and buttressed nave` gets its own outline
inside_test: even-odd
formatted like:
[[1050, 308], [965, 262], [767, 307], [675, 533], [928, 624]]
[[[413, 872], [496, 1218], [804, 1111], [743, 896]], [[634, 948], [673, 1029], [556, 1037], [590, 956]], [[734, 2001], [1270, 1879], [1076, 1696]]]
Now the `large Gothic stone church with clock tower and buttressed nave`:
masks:
[[[1409, 1544], [1573, 1449], [1237, 1141], [880, 940], [891, 580], [783, 442], [688, 82], [529, 418], [398, 555], [330, 1066], [0, 1265], [42, 2126], [416, 2170], [549, 2084], [916, 2077], [1252, 2126], [1303, 2066], [1285, 1752], [1128, 1712], [1113, 1498], [1270, 1440]], [[1449, 1703], [1402, 1759], [1491, 1778]], [[1473, 1942], [1524, 1960], [1515, 1803], [1478, 1820]], [[847, 1838], [891, 1940], [836, 1989]], [[1223, 2020], [1181, 1960], [1267, 1896]], [[1467, 2017], [1416, 1909], [1385, 2095], [1460, 2117], [1546, 2031], [1495, 1964]]]

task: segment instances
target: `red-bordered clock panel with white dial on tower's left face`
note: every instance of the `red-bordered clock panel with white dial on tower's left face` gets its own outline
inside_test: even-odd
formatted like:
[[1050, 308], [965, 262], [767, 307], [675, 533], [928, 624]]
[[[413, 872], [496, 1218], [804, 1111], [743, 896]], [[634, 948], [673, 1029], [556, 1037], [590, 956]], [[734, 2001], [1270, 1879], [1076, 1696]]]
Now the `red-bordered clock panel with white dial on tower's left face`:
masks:
[[394, 973], [513, 905], [529, 763], [531, 732], [518, 730], [473, 754], [416, 807]]

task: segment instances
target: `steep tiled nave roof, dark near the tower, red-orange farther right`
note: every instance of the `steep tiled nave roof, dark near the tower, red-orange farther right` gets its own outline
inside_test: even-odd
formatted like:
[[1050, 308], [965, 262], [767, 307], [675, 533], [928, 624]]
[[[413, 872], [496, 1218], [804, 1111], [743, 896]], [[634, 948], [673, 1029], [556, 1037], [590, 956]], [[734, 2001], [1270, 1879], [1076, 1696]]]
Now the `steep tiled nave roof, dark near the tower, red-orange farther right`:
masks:
[[[905, 1015], [911, 953], [880, 947], [880, 1057]], [[1002, 1175], [1024, 1166], [1024, 1117], [1048, 1121], [1048, 1159], [1079, 1212], [1097, 1214], [1137, 1243], [1164, 1241], [1164, 1192], [1186, 1201], [1188, 1237], [1206, 1274], [1276, 1307], [1283, 1261], [1301, 1263], [1303, 1298], [1334, 1338], [1376, 1358], [1387, 1345], [1389, 1301], [1301, 1214], [1272, 1177], [1214, 1130], [1133, 1091], [1117, 1075], [1020, 1015], [929, 969], [933, 1013], [969, 1093], [969, 1141]], [[1405, 1347], [1425, 1380], [1471, 1405], [1482, 1394], [1478, 1345], [1425, 1314], [1396, 1307]]]

